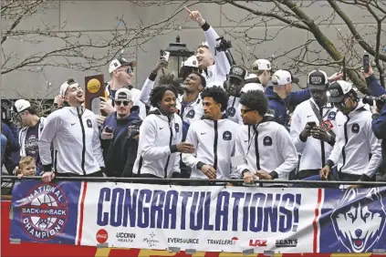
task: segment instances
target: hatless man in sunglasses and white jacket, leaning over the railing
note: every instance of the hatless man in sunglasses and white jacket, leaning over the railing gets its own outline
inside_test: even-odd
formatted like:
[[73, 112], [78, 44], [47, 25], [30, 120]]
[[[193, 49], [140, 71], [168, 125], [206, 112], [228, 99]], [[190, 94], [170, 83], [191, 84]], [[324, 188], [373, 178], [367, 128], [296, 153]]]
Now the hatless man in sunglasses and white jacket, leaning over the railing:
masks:
[[260, 180], [287, 180], [289, 172], [297, 168], [297, 149], [287, 129], [266, 121], [268, 99], [263, 92], [246, 92], [240, 104], [241, 117], [248, 126], [237, 134], [235, 157], [244, 159], [237, 170], [245, 183], [252, 183], [254, 176]]

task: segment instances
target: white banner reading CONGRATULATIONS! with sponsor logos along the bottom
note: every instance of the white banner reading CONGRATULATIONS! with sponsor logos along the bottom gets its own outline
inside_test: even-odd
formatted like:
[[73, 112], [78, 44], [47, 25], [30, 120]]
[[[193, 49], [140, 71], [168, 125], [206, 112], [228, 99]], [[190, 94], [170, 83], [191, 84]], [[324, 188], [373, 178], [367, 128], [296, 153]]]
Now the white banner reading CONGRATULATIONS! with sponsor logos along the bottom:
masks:
[[107, 182], [84, 187], [77, 235], [81, 245], [199, 252], [316, 249], [318, 189]]

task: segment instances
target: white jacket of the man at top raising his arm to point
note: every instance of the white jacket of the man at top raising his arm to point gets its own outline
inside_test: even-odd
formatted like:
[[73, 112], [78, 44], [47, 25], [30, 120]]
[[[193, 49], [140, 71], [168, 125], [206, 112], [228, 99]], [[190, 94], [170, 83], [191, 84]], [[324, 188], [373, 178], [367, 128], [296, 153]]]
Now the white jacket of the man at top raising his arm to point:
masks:
[[218, 34], [215, 32], [214, 28], [205, 22], [203, 26], [203, 33], [205, 34], [206, 41], [208, 42], [209, 49], [212, 52], [214, 57], [214, 65], [207, 67], [206, 73], [203, 72], [203, 77], [206, 78], [206, 84], [211, 82], [218, 82], [223, 85], [223, 82], [226, 80], [226, 75], [229, 73], [231, 66], [224, 52], [217, 52], [215, 46], [218, 41], [216, 41]]

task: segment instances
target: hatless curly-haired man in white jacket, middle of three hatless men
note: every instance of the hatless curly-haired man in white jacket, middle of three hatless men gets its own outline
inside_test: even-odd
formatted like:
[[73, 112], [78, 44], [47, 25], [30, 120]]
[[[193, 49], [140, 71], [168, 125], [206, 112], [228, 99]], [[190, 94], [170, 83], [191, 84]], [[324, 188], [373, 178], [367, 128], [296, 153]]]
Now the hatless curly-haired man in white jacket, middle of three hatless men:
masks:
[[[223, 87], [206, 87], [201, 93], [203, 119], [193, 122], [186, 141], [193, 144], [193, 153], [183, 153], [183, 162], [192, 168], [192, 179], [237, 179], [231, 169], [235, 153], [235, 135], [240, 128], [223, 118], [228, 96]], [[191, 183], [196, 185], [196, 183]]]

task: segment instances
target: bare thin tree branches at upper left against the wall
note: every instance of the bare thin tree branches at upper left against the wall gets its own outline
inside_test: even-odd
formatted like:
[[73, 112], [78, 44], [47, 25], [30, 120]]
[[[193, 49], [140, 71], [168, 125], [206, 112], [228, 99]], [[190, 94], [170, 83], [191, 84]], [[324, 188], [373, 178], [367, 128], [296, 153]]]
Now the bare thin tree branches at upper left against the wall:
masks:
[[[130, 1], [140, 5], [138, 1]], [[140, 1], [141, 2], [141, 1]], [[1, 74], [16, 70], [38, 72], [42, 67], [68, 67], [81, 71], [98, 70], [108, 64], [114, 57], [120, 56], [122, 49], [130, 46], [141, 46], [155, 36], [170, 33], [182, 24], [175, 23], [175, 17], [188, 1], [180, 1], [172, 15], [151, 24], [143, 24], [141, 20], [134, 26], [128, 25], [123, 17], [117, 18], [117, 26], [110, 31], [109, 38], [91, 39], [88, 35], [66, 30], [64, 26], [57, 30], [55, 26], [44, 22], [37, 27], [20, 27], [23, 21], [34, 15], [41, 15], [49, 9], [58, 8], [59, 1], [48, 0], [3, 0], [1, 1], [2, 18], [2, 67]], [[37, 46], [47, 39], [58, 40], [61, 47], [31, 55], [20, 55], [18, 52], [7, 51], [6, 43], [15, 40], [23, 44]], [[11, 41], [11, 42], [10, 42]], [[26, 45], [25, 45], [26, 46]], [[127, 55], [127, 53], [125, 53]]]

